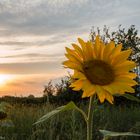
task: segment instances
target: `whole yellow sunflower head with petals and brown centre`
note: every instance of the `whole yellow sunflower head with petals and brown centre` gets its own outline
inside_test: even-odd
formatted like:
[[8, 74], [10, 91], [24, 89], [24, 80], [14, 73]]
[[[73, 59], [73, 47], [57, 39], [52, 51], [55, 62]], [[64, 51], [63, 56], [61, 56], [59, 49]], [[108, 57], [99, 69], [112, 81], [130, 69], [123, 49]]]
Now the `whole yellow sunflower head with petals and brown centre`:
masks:
[[67, 61], [63, 65], [73, 69], [73, 90], [83, 90], [82, 97], [97, 94], [100, 102], [108, 100], [113, 103], [113, 95], [134, 93], [131, 87], [136, 85], [135, 73], [130, 72], [136, 64], [129, 61], [131, 49], [121, 51], [122, 44], [113, 41], [105, 44], [99, 36], [94, 42], [78, 38], [80, 45], [72, 44], [73, 49], [66, 47]]

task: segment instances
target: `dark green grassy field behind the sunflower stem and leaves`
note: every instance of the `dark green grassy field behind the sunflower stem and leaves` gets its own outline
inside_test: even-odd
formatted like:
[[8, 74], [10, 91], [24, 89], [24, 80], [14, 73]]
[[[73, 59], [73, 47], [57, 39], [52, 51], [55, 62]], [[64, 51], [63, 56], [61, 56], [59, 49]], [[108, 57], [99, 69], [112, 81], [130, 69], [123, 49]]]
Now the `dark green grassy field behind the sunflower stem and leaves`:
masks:
[[[80, 107], [87, 110], [87, 105]], [[140, 133], [140, 106], [98, 105], [94, 112], [94, 140], [102, 140], [99, 129]], [[42, 115], [56, 105], [13, 105], [7, 120], [0, 124], [0, 140], [85, 140], [86, 124], [75, 110], [59, 114], [47, 122], [34, 126]], [[8, 126], [8, 121], [13, 125]], [[7, 125], [6, 125], [7, 124]], [[139, 140], [139, 137], [114, 137], [112, 140]]]

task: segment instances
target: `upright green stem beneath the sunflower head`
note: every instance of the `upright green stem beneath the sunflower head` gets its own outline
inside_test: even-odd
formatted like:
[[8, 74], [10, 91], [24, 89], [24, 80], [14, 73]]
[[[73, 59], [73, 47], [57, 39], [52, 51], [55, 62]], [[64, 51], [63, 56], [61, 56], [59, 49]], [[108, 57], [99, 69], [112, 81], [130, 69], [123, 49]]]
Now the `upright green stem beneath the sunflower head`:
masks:
[[94, 102], [94, 97], [90, 97], [90, 102], [89, 102], [89, 108], [88, 108], [88, 118], [87, 118], [87, 140], [92, 140], [93, 133], [92, 133], [92, 128], [93, 128], [93, 104]]

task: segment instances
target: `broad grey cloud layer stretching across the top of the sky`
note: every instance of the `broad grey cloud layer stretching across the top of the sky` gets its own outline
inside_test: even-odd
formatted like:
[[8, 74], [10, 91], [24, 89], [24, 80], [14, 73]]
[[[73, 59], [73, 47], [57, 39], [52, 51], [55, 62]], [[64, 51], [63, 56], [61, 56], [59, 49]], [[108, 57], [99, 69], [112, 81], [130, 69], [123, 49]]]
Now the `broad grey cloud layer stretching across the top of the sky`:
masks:
[[[1, 36], [83, 33], [91, 26], [136, 24], [138, 0], [24, 0], [0, 2]], [[127, 19], [127, 20], [125, 20]], [[133, 19], [133, 20], [131, 20]]]

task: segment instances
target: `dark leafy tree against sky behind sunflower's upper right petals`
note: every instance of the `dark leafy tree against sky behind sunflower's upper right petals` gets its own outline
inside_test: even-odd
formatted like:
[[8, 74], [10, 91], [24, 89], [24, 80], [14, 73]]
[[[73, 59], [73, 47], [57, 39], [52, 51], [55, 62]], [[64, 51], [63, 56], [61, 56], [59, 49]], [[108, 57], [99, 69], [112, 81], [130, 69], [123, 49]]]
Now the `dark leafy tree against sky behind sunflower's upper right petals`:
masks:
[[114, 32], [110, 32], [107, 26], [104, 26], [102, 32], [99, 28], [96, 31], [92, 28], [90, 33], [92, 41], [97, 34], [101, 36], [105, 43], [112, 40], [115, 44], [122, 43], [123, 50], [131, 48], [133, 52], [130, 59], [134, 60], [140, 66], [140, 37], [138, 36], [138, 30], [135, 28], [135, 25], [131, 25], [128, 29], [122, 28], [119, 25], [118, 29]]

